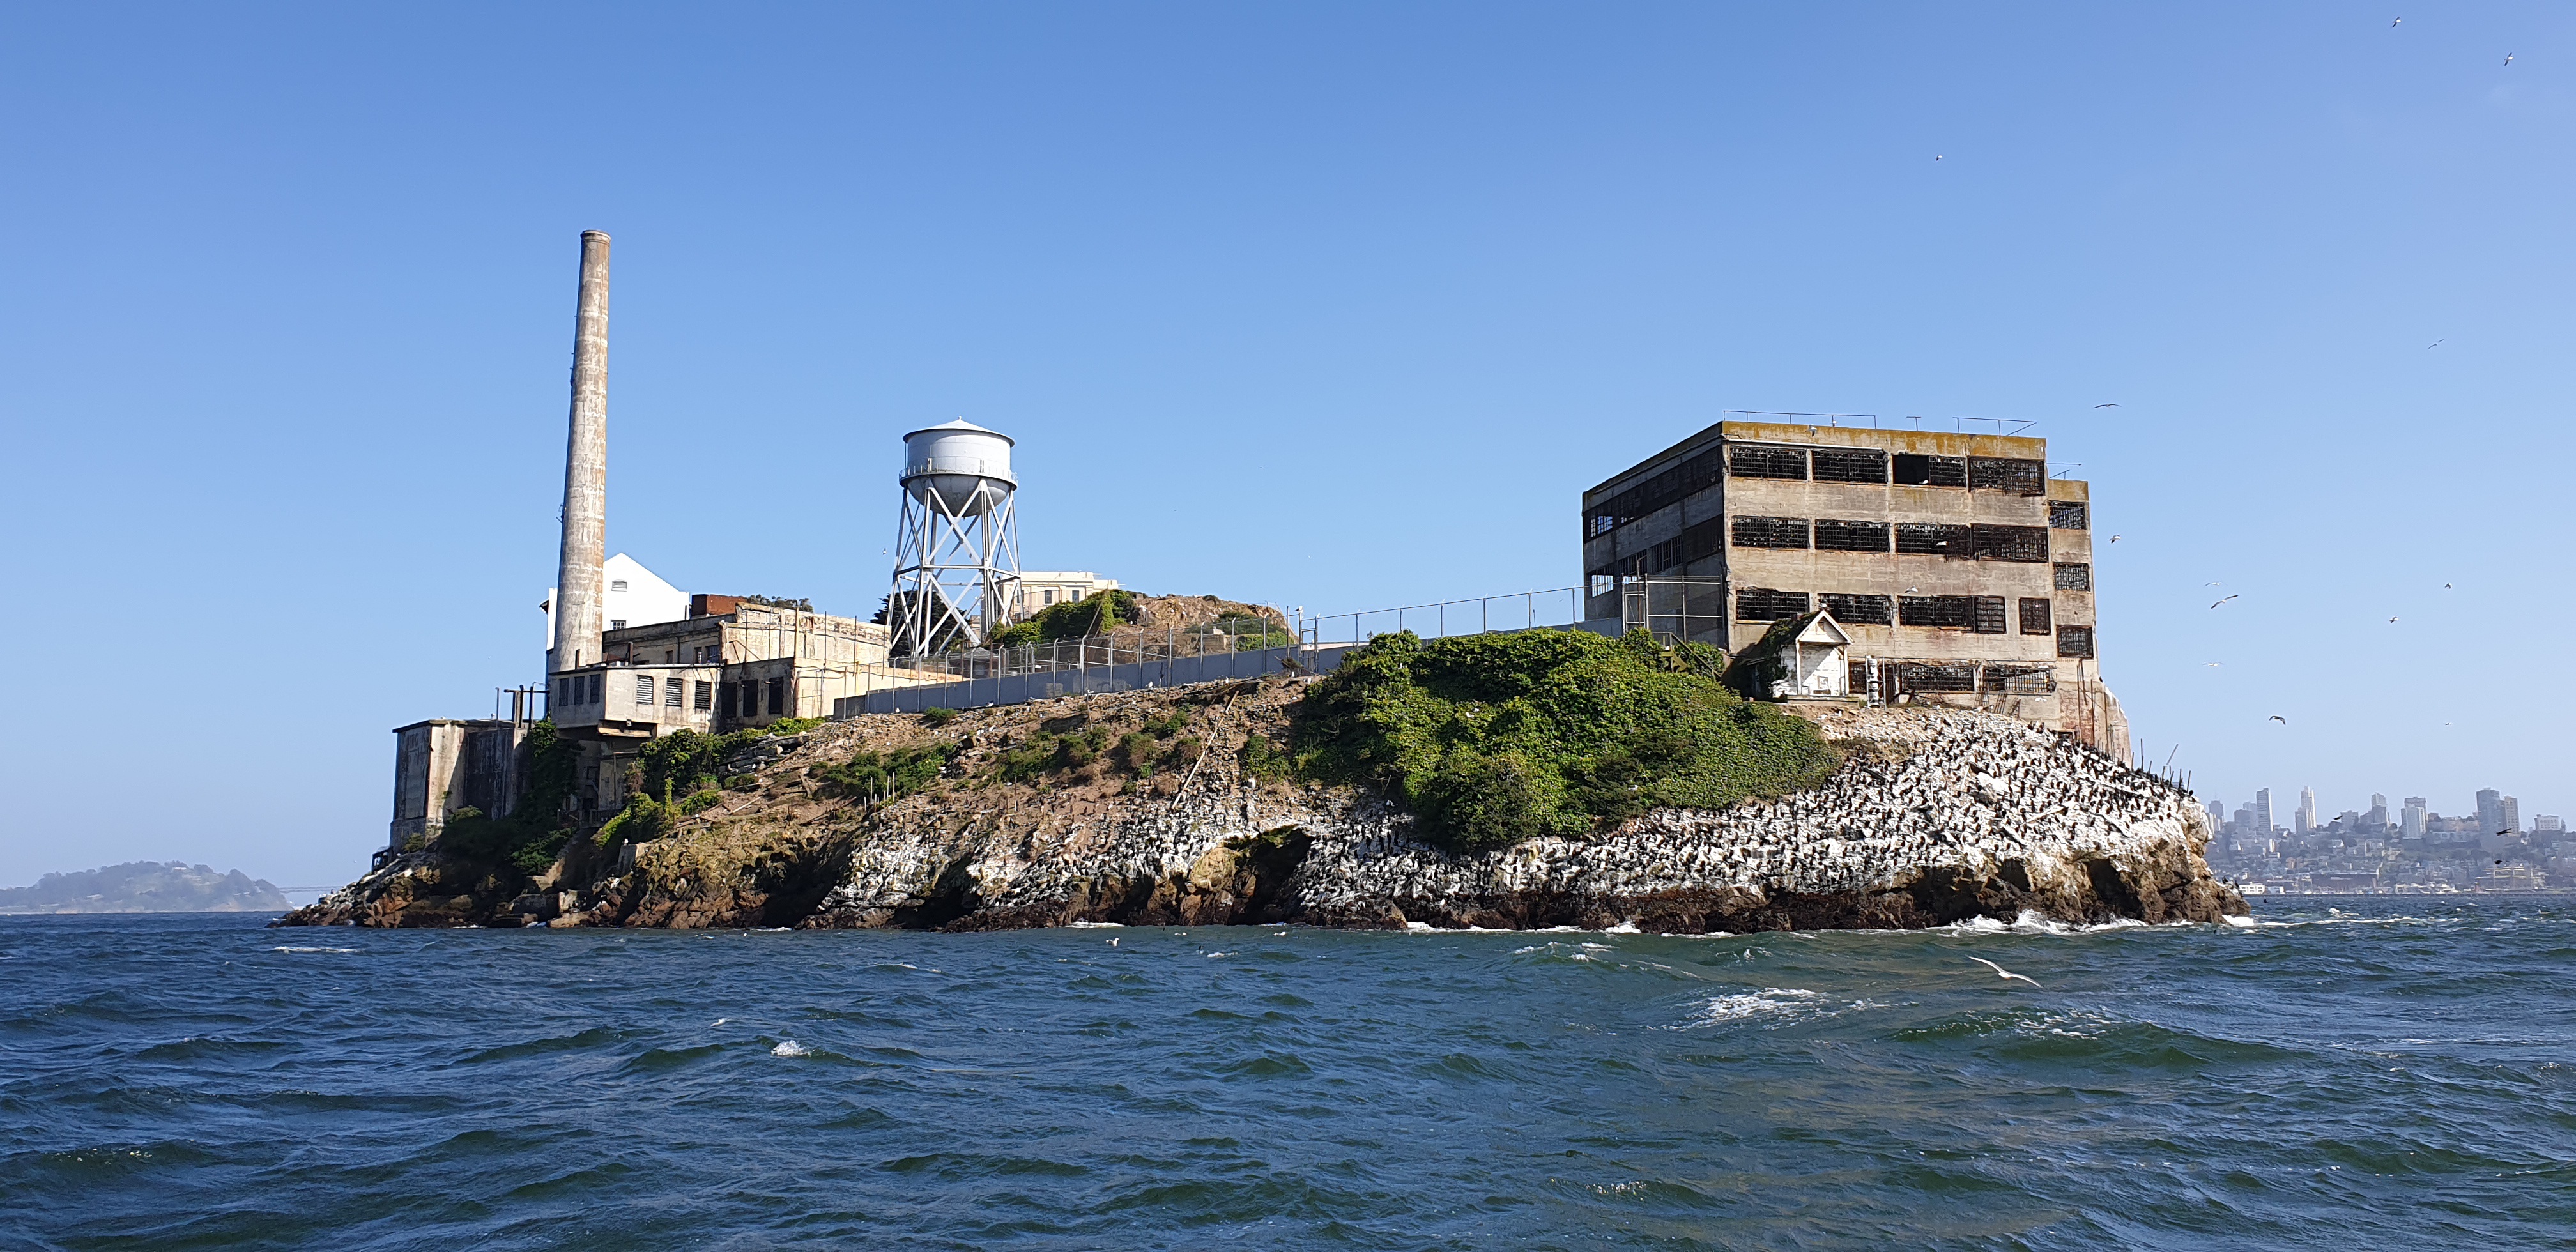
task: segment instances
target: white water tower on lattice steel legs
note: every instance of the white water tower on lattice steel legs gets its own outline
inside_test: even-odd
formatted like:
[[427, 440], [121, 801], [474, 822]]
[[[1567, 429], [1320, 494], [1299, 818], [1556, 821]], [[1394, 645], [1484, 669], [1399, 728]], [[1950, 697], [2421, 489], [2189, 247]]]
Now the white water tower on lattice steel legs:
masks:
[[904, 435], [904, 518], [886, 629], [896, 657], [984, 647], [1018, 600], [1010, 435], [940, 422]]

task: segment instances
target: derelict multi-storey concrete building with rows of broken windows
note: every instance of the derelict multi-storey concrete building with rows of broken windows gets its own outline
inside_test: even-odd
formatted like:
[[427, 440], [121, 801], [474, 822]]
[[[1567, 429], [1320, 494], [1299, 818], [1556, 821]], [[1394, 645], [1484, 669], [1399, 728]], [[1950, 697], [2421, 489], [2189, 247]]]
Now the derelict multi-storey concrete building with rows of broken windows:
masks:
[[[1687, 587], [1726, 647], [1826, 611], [1850, 698], [1994, 708], [2128, 755], [2099, 675], [2092, 495], [2048, 441], [1726, 420], [1584, 492], [1587, 616]], [[1662, 611], [1659, 611], [1662, 613]]]

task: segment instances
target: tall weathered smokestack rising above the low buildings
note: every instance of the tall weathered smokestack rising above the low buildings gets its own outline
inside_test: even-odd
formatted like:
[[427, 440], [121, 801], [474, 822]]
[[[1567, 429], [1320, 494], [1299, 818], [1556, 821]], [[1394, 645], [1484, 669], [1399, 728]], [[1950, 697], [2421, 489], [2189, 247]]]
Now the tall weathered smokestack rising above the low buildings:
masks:
[[582, 309], [572, 319], [572, 433], [564, 446], [564, 554], [554, 572], [546, 672], [598, 665], [608, 562], [608, 234], [582, 232]]

